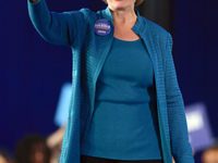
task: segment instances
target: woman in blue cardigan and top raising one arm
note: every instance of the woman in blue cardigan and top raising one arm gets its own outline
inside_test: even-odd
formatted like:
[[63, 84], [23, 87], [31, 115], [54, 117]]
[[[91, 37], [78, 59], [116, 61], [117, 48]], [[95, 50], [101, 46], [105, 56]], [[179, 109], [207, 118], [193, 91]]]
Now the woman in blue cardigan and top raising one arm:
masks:
[[171, 36], [140, 16], [142, 0], [50, 13], [28, 2], [49, 42], [73, 51], [73, 88], [61, 163], [193, 163]]

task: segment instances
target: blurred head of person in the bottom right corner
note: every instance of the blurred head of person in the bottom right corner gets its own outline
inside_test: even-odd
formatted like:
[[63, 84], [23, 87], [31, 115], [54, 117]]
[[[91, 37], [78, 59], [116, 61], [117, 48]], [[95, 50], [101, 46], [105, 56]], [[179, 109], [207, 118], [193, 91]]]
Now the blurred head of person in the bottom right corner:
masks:
[[218, 163], [218, 146], [208, 148], [203, 152], [202, 163]]

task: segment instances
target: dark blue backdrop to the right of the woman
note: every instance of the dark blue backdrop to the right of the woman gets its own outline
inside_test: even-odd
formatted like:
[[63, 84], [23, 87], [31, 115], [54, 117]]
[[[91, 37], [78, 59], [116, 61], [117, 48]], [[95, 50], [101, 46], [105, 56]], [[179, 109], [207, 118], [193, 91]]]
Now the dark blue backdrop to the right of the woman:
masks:
[[[174, 61], [186, 105], [204, 102], [214, 136], [218, 136], [218, 1], [177, 0]], [[196, 162], [199, 162], [196, 153]]]

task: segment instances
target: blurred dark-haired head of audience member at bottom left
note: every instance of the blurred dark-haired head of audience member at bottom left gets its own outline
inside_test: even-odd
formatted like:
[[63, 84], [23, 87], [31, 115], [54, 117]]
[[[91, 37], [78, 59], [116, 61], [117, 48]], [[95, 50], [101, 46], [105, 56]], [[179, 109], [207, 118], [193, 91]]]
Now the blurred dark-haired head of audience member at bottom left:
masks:
[[49, 163], [50, 150], [40, 135], [28, 135], [20, 140], [15, 150], [15, 163]]

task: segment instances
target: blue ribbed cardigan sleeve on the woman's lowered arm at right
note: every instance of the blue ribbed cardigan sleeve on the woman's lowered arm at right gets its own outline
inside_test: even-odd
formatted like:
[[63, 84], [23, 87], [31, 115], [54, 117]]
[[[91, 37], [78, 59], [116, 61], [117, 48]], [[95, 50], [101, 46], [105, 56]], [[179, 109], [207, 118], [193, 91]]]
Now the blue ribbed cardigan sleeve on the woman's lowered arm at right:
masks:
[[166, 98], [172, 155], [175, 163], [194, 163], [192, 148], [189, 142], [183, 98], [178, 85], [171, 54], [172, 38], [170, 34], [166, 48]]

